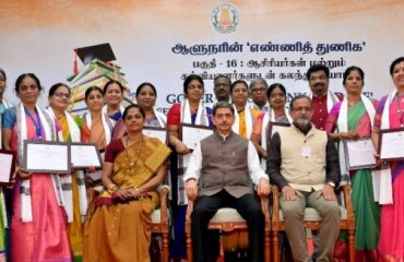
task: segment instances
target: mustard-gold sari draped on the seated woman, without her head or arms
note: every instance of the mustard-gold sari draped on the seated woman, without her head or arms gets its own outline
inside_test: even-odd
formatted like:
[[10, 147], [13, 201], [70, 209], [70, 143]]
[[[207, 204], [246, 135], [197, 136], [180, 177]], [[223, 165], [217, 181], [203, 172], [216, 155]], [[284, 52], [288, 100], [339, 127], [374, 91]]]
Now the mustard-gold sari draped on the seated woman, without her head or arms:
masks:
[[[131, 145], [114, 160], [114, 183], [119, 189], [144, 184], [169, 153], [157, 139], [148, 138]], [[128, 159], [135, 162], [130, 165]], [[104, 191], [92, 203], [84, 225], [84, 261], [150, 261], [151, 214], [158, 204], [156, 191], [127, 200]]]

